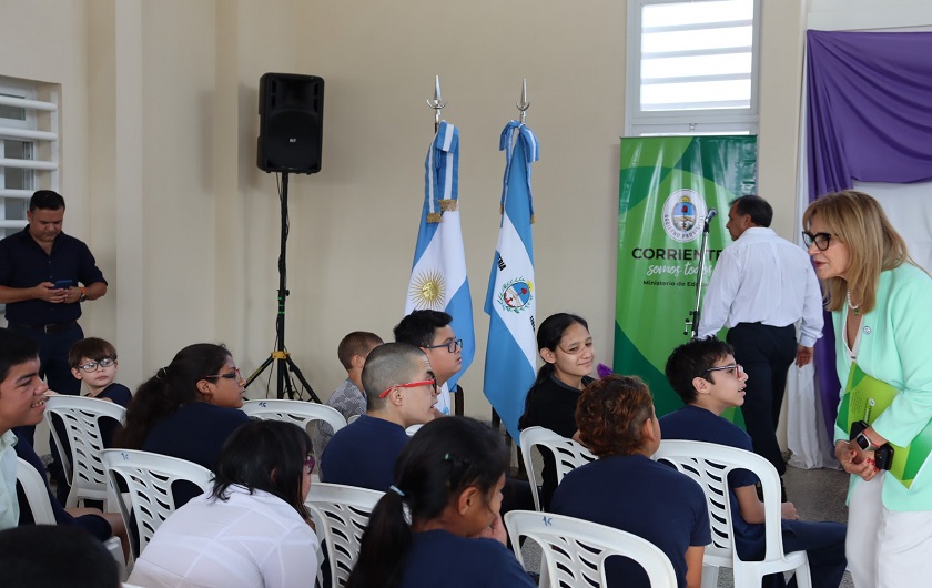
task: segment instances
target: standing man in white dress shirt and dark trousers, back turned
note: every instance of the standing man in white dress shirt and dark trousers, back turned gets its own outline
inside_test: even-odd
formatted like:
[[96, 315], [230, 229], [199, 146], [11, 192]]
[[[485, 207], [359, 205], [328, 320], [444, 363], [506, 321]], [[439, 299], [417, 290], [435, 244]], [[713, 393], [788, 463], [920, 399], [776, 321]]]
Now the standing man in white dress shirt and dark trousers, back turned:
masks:
[[[777, 424], [787, 371], [812, 361], [822, 336], [822, 293], [806, 250], [769, 229], [773, 209], [760, 196], [731, 203], [726, 227], [732, 243], [716, 264], [702, 305], [699, 336], [728, 327], [735, 359], [748, 374], [741, 412], [754, 453], [782, 476]], [[796, 324], [800, 323], [799, 342]]]

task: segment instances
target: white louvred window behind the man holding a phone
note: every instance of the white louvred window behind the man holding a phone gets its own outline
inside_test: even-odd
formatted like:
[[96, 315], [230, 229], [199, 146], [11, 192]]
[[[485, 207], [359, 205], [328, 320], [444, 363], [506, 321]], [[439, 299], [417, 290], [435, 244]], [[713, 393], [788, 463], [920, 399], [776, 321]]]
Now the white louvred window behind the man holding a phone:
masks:
[[26, 225], [33, 191], [58, 190], [58, 94], [0, 77], [0, 237]]

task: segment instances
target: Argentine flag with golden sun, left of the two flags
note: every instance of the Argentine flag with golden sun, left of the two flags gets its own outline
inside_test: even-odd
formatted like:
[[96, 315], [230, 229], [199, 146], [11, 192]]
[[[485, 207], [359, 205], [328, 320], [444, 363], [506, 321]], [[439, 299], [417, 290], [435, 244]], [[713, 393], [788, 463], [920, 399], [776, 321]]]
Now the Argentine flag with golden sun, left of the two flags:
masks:
[[476, 335], [473, 330], [473, 297], [466, 278], [466, 255], [459, 229], [459, 130], [440, 122], [424, 162], [424, 210], [414, 249], [414, 264], [405, 302], [412, 311], [444, 311], [453, 316], [453, 332], [463, 339], [463, 367], [440, 392], [437, 410], [452, 414], [449, 393], [473, 363]]

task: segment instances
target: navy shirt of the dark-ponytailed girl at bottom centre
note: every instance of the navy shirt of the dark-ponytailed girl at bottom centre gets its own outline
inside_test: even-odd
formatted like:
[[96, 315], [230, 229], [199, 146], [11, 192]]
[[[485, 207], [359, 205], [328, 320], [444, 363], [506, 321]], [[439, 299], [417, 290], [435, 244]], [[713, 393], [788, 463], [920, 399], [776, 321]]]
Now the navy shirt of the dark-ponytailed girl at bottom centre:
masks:
[[531, 588], [537, 585], [515, 555], [495, 539], [470, 539], [445, 530], [415, 533], [401, 587], [437, 586]]

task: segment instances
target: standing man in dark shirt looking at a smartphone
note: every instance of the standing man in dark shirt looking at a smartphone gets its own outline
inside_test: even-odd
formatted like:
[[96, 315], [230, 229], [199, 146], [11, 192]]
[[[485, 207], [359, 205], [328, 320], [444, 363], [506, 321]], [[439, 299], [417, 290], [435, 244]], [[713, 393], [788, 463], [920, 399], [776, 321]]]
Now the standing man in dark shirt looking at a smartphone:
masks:
[[[39, 345], [40, 376], [49, 388], [77, 395], [81, 382], [71, 375], [68, 351], [84, 338], [81, 303], [107, 294], [107, 281], [88, 245], [62, 232], [63, 219], [59, 193], [32, 194], [29, 224], [0, 241], [0, 303], [8, 327]], [[27, 437], [31, 442], [32, 432]]]

